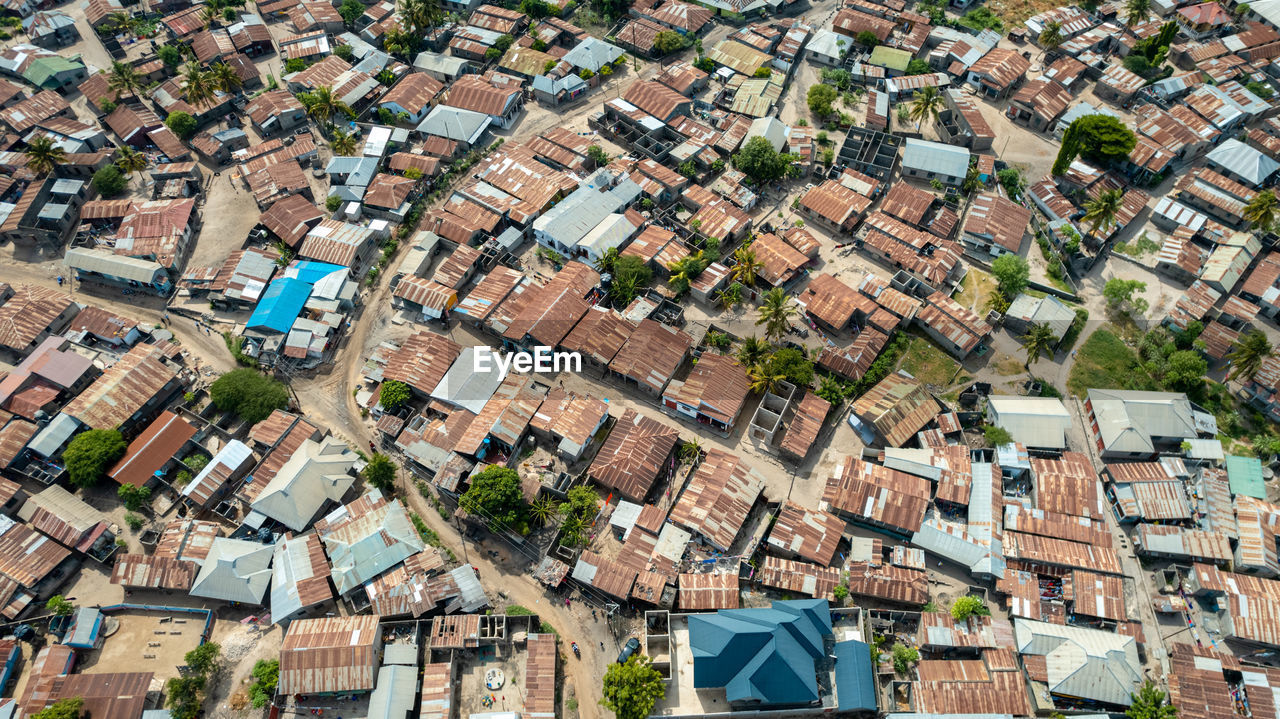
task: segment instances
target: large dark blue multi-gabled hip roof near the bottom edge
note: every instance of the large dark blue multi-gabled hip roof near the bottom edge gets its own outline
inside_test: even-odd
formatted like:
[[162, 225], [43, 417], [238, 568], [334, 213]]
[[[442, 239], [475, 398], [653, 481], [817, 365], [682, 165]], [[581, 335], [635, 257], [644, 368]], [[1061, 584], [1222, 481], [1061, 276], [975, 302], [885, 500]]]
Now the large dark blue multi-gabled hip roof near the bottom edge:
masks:
[[824, 599], [692, 615], [694, 686], [724, 687], [728, 701], [760, 706], [817, 701], [814, 663], [823, 656], [823, 637], [829, 635], [831, 612]]

